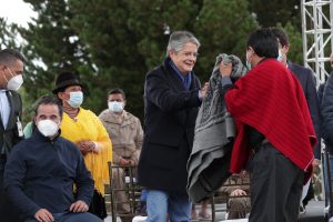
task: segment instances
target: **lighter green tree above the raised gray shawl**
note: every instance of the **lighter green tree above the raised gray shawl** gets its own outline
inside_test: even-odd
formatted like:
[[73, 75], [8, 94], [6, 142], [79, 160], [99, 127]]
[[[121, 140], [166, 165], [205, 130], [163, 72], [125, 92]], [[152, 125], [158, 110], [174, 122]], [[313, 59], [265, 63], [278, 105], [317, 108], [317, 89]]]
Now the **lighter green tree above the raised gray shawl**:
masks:
[[251, 31], [258, 28], [248, 11], [246, 0], [205, 0], [195, 22], [202, 47], [198, 69], [208, 80], [215, 57], [220, 53], [235, 54], [245, 61], [245, 43]]

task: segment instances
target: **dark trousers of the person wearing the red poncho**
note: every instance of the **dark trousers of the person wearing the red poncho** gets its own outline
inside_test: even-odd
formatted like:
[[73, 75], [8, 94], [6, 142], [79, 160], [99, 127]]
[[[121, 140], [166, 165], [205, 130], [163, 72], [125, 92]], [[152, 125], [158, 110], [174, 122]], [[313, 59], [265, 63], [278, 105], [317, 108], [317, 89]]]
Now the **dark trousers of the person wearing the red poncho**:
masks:
[[304, 172], [271, 143], [261, 145], [250, 163], [250, 222], [295, 222]]

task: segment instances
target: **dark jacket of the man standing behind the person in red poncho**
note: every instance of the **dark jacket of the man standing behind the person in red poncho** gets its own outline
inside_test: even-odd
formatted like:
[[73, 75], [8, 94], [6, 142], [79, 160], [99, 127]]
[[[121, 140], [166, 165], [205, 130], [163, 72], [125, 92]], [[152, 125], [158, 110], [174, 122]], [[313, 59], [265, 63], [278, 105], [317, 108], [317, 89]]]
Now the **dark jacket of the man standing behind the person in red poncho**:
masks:
[[307, 102], [309, 111], [311, 114], [313, 128], [317, 138], [317, 143], [314, 148], [315, 159], [321, 159], [321, 147], [320, 147], [320, 103], [315, 88], [315, 79], [311, 69], [304, 68], [299, 64], [289, 62], [287, 68], [296, 75], [299, 79], [304, 95]]

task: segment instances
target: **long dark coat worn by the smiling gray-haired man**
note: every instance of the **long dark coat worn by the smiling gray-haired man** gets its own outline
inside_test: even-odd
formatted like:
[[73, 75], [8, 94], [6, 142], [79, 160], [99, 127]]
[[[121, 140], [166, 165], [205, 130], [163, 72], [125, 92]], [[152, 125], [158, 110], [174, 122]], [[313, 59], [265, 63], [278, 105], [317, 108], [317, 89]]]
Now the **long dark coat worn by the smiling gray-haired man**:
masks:
[[169, 62], [170, 58], [165, 59], [145, 77], [139, 182], [148, 189], [186, 194], [200, 81], [193, 74], [190, 90], [185, 90]]

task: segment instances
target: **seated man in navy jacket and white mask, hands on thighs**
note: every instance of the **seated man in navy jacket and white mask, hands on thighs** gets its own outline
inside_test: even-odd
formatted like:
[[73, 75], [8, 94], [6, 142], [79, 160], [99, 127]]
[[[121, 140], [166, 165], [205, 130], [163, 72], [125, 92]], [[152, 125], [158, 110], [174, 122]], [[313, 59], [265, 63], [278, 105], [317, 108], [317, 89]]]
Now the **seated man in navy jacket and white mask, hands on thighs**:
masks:
[[62, 108], [56, 99], [42, 97], [34, 114], [33, 135], [14, 147], [6, 164], [9, 201], [24, 222], [101, 222], [87, 212], [93, 180], [83, 158], [60, 137]]

